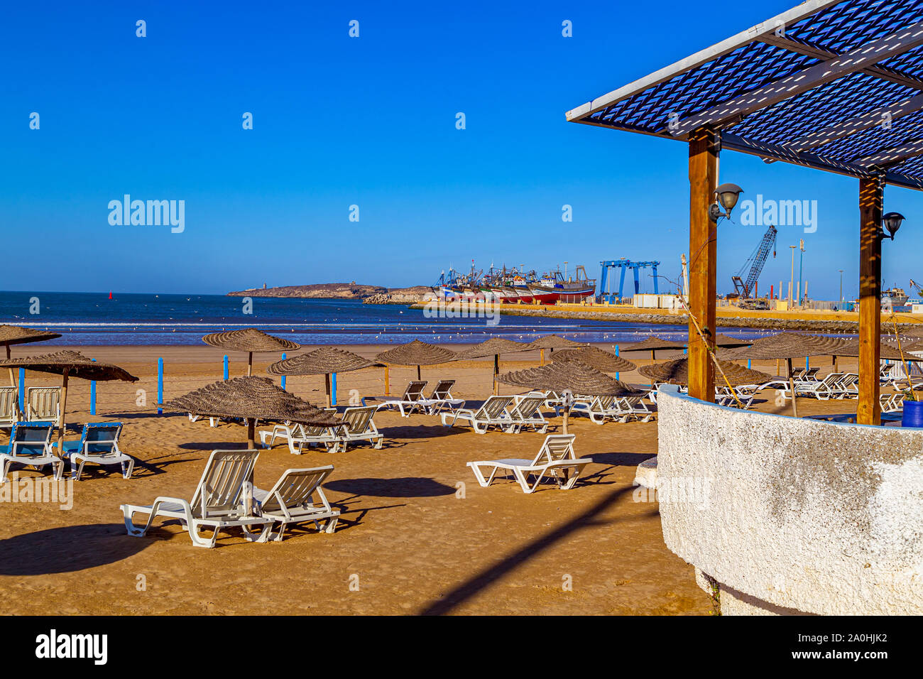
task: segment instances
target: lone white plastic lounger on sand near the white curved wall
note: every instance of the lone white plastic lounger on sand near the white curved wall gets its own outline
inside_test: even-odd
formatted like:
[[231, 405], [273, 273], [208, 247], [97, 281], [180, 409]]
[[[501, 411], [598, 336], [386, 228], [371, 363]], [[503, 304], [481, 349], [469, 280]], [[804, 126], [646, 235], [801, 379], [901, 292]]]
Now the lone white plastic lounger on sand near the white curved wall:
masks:
[[[497, 472], [502, 469], [507, 472], [504, 476], [516, 479], [525, 493], [535, 491], [545, 477], [554, 479], [559, 490], [568, 491], [580, 478], [583, 467], [593, 462], [589, 457], [574, 455], [574, 438], [574, 434], [548, 434], [538, 455], [535, 455], [533, 460], [516, 458], [481, 460], [469, 462], [468, 467], [472, 468], [474, 477], [483, 487], [489, 486], [497, 476]], [[487, 479], [484, 478], [481, 467], [491, 469]], [[531, 484], [530, 477], [534, 479]]]

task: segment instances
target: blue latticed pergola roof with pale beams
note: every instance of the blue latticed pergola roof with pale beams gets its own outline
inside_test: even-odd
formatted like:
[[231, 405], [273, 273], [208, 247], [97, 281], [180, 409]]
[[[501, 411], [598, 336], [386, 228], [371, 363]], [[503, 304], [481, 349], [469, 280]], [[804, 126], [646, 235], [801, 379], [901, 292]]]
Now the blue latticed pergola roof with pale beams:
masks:
[[923, 3], [809, 0], [568, 120], [923, 189]]

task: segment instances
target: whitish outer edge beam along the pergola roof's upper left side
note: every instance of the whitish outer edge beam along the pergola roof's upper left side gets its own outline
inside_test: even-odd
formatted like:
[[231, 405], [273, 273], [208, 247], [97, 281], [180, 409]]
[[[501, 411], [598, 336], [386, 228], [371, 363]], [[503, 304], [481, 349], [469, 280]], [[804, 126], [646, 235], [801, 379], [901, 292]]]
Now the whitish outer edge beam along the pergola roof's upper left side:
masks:
[[592, 115], [607, 106], [611, 106], [613, 103], [628, 99], [639, 92], [666, 82], [693, 68], [701, 67], [703, 64], [707, 64], [717, 59], [719, 56], [734, 52], [734, 50], [743, 47], [749, 42], [759, 40], [763, 36], [774, 33], [780, 27], [789, 26], [803, 18], [808, 18], [813, 14], [817, 14], [821, 9], [837, 5], [840, 2], [843, 2], [843, 0], [809, 0], [808, 2], [801, 3], [797, 7], [792, 7], [782, 14], [778, 14], [773, 18], [768, 18], [758, 23], [756, 26], [752, 26], [747, 30], [742, 30], [737, 33], [737, 35], [713, 44], [711, 47], [707, 47], [694, 55], [689, 55], [685, 59], [677, 61], [675, 64], [654, 71], [649, 76], [637, 79], [625, 87], [620, 87], [601, 97], [596, 97], [593, 101], [572, 108], [565, 114], [565, 117], [568, 120], [579, 120], [586, 115]]

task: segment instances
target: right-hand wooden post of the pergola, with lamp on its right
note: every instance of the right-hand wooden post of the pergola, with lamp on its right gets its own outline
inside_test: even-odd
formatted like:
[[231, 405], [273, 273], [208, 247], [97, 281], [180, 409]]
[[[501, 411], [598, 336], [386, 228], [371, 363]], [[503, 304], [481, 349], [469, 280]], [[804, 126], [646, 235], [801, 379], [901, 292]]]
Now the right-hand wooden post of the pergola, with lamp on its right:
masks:
[[879, 177], [859, 179], [858, 424], [881, 424], [881, 205]]

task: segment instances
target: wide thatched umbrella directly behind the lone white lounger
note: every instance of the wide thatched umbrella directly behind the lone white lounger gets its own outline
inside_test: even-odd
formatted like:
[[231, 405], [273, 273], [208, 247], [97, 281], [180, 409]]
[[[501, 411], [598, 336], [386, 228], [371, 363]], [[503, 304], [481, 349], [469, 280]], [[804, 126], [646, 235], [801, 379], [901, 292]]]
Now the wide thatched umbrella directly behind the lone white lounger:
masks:
[[[580, 361], [556, 361], [539, 368], [516, 370], [497, 376], [497, 382], [527, 389], [548, 389], [560, 394], [585, 396], [640, 396], [646, 392], [633, 389], [625, 382], [609, 377]], [[564, 408], [564, 433], [568, 432], [569, 406]]]

